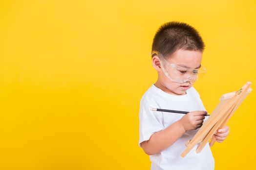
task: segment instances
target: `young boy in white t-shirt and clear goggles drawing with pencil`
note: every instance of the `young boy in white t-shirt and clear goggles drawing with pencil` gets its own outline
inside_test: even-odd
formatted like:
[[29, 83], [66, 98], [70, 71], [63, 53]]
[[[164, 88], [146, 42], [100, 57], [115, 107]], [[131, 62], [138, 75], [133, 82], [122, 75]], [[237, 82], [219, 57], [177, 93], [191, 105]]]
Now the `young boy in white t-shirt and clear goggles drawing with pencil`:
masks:
[[[163, 24], [152, 44], [152, 65], [158, 79], [140, 101], [139, 146], [149, 154], [151, 170], [214, 170], [209, 143], [200, 153], [197, 144], [186, 157], [181, 153], [208, 117], [198, 92], [192, 86], [205, 72], [201, 66], [204, 42], [190, 25], [181, 22]], [[152, 111], [151, 108], [189, 111], [188, 114]], [[217, 130], [222, 142], [229, 127]]]

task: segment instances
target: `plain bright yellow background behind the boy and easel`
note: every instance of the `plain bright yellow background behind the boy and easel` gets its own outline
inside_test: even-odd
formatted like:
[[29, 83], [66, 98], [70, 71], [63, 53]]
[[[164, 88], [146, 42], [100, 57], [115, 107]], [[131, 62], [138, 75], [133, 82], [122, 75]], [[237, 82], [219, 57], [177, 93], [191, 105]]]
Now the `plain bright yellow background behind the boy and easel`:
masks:
[[[139, 102], [155, 83], [161, 24], [182, 21], [206, 44], [195, 84], [208, 112], [224, 93], [256, 90], [253, 0], [1, 0], [0, 169], [149, 170]], [[212, 148], [216, 170], [255, 169], [255, 91]]]

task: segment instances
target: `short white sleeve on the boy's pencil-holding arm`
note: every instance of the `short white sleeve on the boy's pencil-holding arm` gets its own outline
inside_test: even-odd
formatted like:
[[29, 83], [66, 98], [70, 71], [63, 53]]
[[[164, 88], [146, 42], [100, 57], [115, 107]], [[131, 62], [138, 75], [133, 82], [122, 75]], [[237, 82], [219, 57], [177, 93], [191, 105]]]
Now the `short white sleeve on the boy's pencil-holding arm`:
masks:
[[151, 108], [157, 108], [157, 106], [146, 102], [140, 103], [140, 147], [141, 142], [149, 140], [152, 134], [164, 129], [162, 113], [152, 111]]

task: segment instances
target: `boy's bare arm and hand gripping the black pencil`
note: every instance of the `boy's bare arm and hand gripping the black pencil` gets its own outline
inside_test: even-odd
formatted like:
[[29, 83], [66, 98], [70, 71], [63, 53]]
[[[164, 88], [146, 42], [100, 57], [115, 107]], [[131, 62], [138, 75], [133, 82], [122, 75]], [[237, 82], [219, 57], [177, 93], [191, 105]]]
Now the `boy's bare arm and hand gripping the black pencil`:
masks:
[[187, 113], [166, 129], [155, 132], [150, 136], [149, 140], [141, 143], [141, 147], [144, 152], [149, 155], [160, 153], [170, 147], [185, 132], [201, 127], [206, 114], [206, 111], [193, 111]]

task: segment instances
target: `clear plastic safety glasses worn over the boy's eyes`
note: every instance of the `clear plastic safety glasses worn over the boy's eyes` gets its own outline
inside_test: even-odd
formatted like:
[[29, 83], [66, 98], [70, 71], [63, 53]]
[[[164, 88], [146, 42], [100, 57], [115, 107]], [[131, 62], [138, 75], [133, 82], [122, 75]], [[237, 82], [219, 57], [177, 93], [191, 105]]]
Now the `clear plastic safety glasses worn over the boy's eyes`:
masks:
[[166, 56], [158, 51], [152, 51], [151, 55], [156, 54], [160, 59], [160, 65], [165, 73], [165, 75], [171, 79], [171, 81], [176, 83], [190, 82], [194, 84], [196, 80], [202, 77], [206, 73], [206, 68], [201, 66], [198, 69], [181, 67], [168, 59]]

